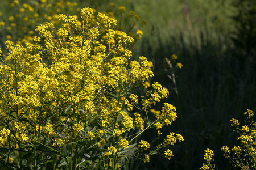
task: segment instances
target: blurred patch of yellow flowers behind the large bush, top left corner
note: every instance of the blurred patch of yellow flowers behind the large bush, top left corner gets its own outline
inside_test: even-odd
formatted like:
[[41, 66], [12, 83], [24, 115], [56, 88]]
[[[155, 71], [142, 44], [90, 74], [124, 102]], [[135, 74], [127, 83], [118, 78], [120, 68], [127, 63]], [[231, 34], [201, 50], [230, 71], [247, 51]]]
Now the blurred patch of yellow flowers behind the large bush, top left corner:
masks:
[[7, 40], [14, 40], [17, 44], [32, 42], [34, 32], [31, 28], [35, 28], [38, 23], [56, 23], [57, 14], [60, 12], [68, 11], [70, 14], [75, 14], [77, 5], [77, 2], [63, 0], [26, 1], [26, 3], [8, 0], [3, 6], [7, 11], [12, 12], [9, 13], [11, 15], [7, 14], [9, 20], [6, 22], [0, 15], [0, 28], [3, 27]]

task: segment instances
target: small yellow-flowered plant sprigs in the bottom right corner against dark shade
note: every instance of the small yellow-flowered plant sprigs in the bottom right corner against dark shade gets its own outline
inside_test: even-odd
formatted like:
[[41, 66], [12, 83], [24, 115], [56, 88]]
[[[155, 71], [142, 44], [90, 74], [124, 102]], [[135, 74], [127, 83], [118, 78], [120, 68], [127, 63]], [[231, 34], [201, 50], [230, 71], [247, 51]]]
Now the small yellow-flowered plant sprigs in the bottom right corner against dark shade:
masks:
[[[247, 109], [245, 113], [246, 116], [245, 122], [246, 125], [239, 128], [240, 122], [232, 118], [230, 120], [231, 126], [236, 128], [239, 137], [237, 138], [240, 141], [240, 146], [234, 145], [234, 147], [230, 150], [228, 146], [222, 146], [221, 151], [224, 152], [225, 158], [230, 160], [235, 167], [239, 167], [241, 169], [251, 169], [256, 167], [256, 123], [253, 120], [254, 112], [250, 109]], [[204, 160], [207, 164], [203, 164], [203, 167], [200, 169], [215, 169], [215, 165], [212, 163], [214, 160], [213, 151], [205, 150]]]

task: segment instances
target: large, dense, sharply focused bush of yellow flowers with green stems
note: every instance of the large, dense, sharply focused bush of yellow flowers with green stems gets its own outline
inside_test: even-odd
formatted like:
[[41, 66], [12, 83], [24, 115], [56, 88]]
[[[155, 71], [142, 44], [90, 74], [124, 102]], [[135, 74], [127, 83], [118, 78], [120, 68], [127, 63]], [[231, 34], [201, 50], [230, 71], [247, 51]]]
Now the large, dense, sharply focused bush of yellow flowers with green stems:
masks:
[[[24, 5], [20, 12], [26, 10], [33, 8]], [[180, 134], [170, 133], [157, 151], [149, 150], [147, 141], [135, 143], [145, 130], [170, 125], [177, 114], [168, 103], [159, 114], [148, 112], [168, 96], [157, 82], [146, 97], [134, 94], [154, 75], [152, 63], [143, 56], [134, 60], [134, 39], [115, 29], [116, 24], [106, 14], [83, 8], [80, 16], [61, 14], [55, 22], [36, 26], [38, 36], [31, 42], [5, 42], [0, 144], [9, 149], [15, 165], [23, 166], [17, 155], [32, 152], [26, 164], [35, 169], [116, 168], [131, 159], [149, 162], [149, 155], [183, 141]], [[167, 150], [167, 159], [171, 153]]]

